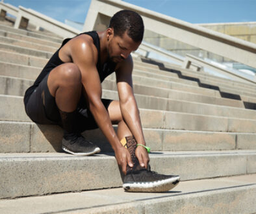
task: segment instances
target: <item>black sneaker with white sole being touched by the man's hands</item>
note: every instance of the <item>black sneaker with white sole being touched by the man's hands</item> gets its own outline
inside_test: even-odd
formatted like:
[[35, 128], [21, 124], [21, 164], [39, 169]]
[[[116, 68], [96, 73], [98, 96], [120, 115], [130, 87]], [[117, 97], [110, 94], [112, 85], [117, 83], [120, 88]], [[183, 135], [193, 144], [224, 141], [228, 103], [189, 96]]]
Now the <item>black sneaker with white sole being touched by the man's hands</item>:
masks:
[[123, 180], [123, 189], [129, 192], [166, 192], [179, 184], [179, 176], [164, 175], [149, 169], [129, 171]]

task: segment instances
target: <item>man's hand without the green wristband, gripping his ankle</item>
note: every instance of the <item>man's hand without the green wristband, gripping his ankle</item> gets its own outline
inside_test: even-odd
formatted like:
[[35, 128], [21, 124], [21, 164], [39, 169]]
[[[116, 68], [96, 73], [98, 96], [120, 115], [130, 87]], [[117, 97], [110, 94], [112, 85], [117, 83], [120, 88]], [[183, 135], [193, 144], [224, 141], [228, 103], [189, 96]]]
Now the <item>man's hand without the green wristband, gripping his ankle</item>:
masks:
[[122, 168], [123, 174], [126, 174], [127, 164], [133, 167], [133, 162], [131, 161], [131, 155], [125, 147], [119, 147], [115, 150], [116, 161], [118, 165]]

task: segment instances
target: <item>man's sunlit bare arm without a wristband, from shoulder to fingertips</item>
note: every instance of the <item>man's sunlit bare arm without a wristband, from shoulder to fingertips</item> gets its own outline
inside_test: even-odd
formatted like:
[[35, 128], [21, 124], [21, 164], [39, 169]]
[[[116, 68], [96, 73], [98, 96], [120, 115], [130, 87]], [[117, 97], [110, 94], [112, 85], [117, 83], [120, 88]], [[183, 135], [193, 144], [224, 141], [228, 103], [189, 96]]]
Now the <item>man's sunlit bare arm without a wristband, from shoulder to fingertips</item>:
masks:
[[122, 166], [122, 171], [126, 171], [126, 165], [133, 167], [129, 151], [120, 143], [112, 123], [109, 113], [101, 102], [101, 82], [96, 68], [97, 49], [92, 41], [84, 42], [83, 39], [77, 38], [72, 45], [71, 57], [73, 62], [79, 67], [82, 75], [82, 84], [84, 96], [88, 102], [88, 108], [94, 115], [97, 125], [107, 137], [112, 146], [118, 165]]

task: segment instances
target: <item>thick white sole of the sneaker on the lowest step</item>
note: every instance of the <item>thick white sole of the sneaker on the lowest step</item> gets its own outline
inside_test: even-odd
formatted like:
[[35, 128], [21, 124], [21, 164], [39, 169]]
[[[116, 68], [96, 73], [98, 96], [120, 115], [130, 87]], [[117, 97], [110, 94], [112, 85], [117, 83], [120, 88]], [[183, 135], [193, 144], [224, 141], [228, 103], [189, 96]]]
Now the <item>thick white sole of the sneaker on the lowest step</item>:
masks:
[[159, 180], [155, 182], [126, 182], [123, 184], [123, 189], [127, 192], [138, 193], [162, 193], [169, 191], [177, 184], [179, 184], [180, 177], [168, 178], [166, 180]]

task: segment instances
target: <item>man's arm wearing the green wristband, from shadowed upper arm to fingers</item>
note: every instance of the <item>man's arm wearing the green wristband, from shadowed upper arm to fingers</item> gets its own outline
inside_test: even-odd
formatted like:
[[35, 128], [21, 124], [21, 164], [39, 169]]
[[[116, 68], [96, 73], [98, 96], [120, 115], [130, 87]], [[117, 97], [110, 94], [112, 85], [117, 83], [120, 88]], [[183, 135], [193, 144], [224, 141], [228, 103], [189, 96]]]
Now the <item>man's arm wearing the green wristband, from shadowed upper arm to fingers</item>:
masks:
[[[146, 145], [142, 131], [140, 113], [133, 93], [133, 58], [131, 55], [116, 69], [116, 82], [123, 119], [138, 144]], [[136, 148], [136, 157], [142, 167], [147, 167], [149, 156], [144, 147]]]

